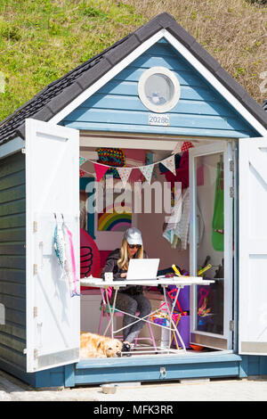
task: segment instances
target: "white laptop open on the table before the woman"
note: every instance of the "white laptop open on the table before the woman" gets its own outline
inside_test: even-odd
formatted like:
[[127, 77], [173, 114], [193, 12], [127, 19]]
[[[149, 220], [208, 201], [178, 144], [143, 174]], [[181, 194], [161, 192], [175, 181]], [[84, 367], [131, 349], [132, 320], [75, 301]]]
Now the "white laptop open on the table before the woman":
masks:
[[126, 279], [155, 279], [158, 274], [159, 259], [130, 259]]

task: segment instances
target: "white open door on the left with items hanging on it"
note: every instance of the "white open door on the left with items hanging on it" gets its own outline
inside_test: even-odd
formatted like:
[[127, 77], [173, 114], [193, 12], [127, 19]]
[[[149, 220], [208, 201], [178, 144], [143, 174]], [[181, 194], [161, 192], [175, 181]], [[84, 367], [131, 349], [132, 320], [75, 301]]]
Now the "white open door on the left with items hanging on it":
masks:
[[[79, 358], [80, 298], [55, 255], [54, 213], [73, 235], [79, 275], [79, 132], [26, 119], [27, 371]], [[79, 283], [78, 283], [79, 288]]]

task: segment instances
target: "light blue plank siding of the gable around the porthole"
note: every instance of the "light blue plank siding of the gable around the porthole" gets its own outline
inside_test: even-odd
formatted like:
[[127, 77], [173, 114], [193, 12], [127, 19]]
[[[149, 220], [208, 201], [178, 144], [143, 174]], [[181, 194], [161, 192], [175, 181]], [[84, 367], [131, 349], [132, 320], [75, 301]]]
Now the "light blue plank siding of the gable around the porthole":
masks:
[[[181, 97], [170, 115], [169, 127], [149, 125], [149, 111], [138, 96], [144, 70], [160, 66], [172, 70]], [[105, 86], [72, 111], [64, 125], [77, 129], [186, 136], [257, 136], [213, 86], [167, 42], [158, 42]]]

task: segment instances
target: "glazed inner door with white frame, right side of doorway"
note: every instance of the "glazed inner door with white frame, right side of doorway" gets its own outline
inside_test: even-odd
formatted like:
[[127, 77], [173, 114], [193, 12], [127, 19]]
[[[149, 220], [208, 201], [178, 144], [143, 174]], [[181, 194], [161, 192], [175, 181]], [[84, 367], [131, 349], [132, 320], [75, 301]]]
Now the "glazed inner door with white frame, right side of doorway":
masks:
[[232, 348], [232, 152], [231, 142], [190, 148], [190, 275], [212, 265], [209, 286], [190, 290], [190, 342]]

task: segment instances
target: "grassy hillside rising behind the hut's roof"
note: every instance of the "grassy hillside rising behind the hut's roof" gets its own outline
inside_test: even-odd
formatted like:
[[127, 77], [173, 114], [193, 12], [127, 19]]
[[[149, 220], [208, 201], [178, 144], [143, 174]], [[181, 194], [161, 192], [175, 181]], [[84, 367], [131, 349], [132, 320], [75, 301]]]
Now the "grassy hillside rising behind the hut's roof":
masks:
[[0, 120], [159, 12], [173, 14], [261, 103], [267, 96], [260, 89], [267, 71], [267, 8], [262, 3], [0, 0]]

